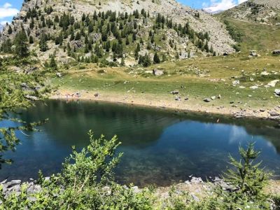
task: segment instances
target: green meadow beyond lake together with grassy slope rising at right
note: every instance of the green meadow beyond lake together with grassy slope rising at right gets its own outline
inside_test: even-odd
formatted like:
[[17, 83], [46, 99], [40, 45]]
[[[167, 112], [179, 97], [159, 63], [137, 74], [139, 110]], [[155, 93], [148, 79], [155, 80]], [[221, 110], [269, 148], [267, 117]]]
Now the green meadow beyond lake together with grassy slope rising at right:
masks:
[[[279, 105], [279, 98], [273, 92], [280, 87], [280, 83], [269, 88], [264, 85], [280, 78], [280, 57], [271, 55], [272, 50], [280, 48], [280, 27], [228, 20], [243, 34], [241, 52], [236, 55], [165, 62], [146, 69], [97, 68], [94, 64], [88, 64], [85, 70], [78, 70], [78, 67], [73, 66], [66, 76], [55, 78], [53, 83], [70, 92], [105, 92], [112, 97], [130, 95], [132, 99], [162, 100], [169, 103], [176, 103], [170, 92], [179, 90], [182, 99], [189, 97], [186, 103], [190, 106], [225, 106], [233, 109], [230, 102], [234, 101], [238, 109], [272, 109]], [[261, 57], [248, 58], [249, 50], [258, 50]], [[155, 68], [164, 70], [165, 75], [155, 77], [145, 73]], [[101, 69], [106, 73], [99, 73]], [[262, 71], [271, 74], [261, 76]], [[207, 76], [200, 77], [200, 74]], [[250, 81], [250, 78], [254, 81]], [[233, 80], [240, 80], [240, 85], [234, 87]], [[260, 85], [260, 88], [252, 90], [252, 85]], [[246, 88], [241, 89], [239, 86]], [[222, 99], [208, 104], [203, 102], [205, 97], [218, 94], [221, 94]]]

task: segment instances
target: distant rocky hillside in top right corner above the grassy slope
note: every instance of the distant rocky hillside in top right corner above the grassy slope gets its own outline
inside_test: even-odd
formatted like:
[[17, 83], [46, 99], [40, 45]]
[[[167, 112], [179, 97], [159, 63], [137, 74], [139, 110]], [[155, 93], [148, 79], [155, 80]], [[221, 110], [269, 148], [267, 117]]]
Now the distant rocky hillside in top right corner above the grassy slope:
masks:
[[280, 26], [280, 1], [249, 0], [235, 8], [218, 14], [218, 16], [248, 22], [258, 22], [264, 25]]

